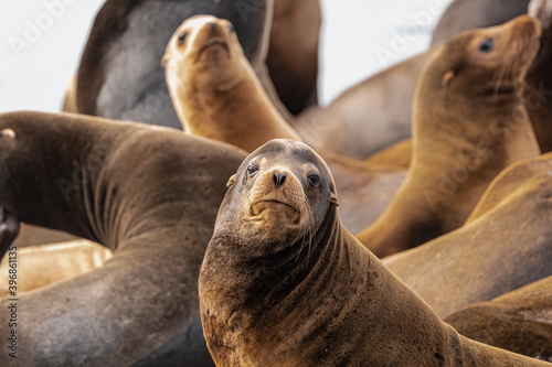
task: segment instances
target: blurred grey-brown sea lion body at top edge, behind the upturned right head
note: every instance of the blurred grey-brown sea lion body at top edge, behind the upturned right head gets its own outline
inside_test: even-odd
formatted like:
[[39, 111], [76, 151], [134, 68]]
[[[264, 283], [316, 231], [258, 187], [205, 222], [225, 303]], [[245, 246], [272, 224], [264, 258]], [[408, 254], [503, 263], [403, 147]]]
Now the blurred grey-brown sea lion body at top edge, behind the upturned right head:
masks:
[[454, 0], [433, 31], [432, 45], [467, 30], [506, 23], [524, 14], [528, 3], [529, 0]]

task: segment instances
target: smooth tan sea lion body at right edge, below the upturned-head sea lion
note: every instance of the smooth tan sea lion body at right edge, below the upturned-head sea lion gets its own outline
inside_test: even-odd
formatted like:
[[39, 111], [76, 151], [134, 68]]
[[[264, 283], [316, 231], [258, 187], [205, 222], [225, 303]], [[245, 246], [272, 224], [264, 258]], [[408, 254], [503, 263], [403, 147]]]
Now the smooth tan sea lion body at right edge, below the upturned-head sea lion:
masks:
[[440, 317], [552, 276], [552, 154], [513, 164], [459, 229], [384, 259]]

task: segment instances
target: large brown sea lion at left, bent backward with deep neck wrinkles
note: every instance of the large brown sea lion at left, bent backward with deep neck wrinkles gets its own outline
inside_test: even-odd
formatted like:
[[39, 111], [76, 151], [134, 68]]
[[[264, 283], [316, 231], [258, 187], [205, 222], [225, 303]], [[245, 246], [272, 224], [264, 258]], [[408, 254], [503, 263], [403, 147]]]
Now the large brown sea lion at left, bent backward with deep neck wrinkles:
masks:
[[[18, 361], [212, 365], [197, 281], [224, 183], [245, 154], [173, 129], [73, 114], [4, 114], [0, 131], [13, 137], [0, 138], [7, 223], [68, 231], [114, 252], [83, 276], [17, 294]], [[0, 354], [0, 365], [12, 360]]]

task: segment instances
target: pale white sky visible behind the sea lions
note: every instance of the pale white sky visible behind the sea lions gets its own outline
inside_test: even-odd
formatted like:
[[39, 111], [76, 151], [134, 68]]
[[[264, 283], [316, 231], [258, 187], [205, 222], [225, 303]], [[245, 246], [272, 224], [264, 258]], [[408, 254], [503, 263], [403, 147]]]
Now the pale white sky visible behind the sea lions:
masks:
[[[330, 102], [378, 71], [426, 50], [431, 31], [440, 17], [429, 9], [437, 2], [443, 12], [450, 1], [321, 0], [320, 104]], [[61, 109], [88, 29], [103, 2], [0, 3], [0, 112]], [[63, 7], [51, 7], [53, 3]], [[29, 33], [31, 26], [39, 32]], [[11, 44], [15, 40], [28, 43], [17, 50]], [[388, 58], [379, 57], [378, 52]]]

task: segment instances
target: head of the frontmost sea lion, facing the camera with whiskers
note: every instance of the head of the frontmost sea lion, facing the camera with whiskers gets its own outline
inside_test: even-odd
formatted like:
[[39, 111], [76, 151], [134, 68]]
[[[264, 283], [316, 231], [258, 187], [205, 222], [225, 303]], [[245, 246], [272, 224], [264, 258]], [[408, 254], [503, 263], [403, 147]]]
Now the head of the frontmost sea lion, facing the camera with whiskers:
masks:
[[274, 253], [310, 241], [335, 206], [336, 186], [322, 159], [301, 142], [270, 140], [230, 179], [213, 237], [253, 252], [263, 244], [261, 251]]

